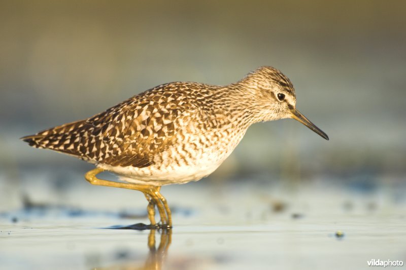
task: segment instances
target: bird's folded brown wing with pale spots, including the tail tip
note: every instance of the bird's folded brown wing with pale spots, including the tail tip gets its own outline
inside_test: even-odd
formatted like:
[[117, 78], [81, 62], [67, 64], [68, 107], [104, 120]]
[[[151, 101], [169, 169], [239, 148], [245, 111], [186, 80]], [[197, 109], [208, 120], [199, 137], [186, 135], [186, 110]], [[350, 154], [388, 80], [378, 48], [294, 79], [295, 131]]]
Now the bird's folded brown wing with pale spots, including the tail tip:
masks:
[[89, 119], [22, 139], [90, 162], [148, 167], [176, 142], [179, 123], [190, 119], [196, 109], [187, 97], [171, 89], [156, 87]]

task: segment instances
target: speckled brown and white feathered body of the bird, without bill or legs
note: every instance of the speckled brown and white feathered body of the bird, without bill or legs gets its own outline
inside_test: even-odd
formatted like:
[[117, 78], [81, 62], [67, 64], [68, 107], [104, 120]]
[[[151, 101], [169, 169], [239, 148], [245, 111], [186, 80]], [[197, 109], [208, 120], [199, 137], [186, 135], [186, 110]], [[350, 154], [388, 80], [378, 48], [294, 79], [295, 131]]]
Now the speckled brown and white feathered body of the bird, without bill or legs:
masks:
[[184, 183], [213, 172], [251, 124], [291, 117], [295, 103], [289, 79], [265, 66], [227, 86], [160, 85], [88, 119], [22, 139], [95, 163], [125, 181]]

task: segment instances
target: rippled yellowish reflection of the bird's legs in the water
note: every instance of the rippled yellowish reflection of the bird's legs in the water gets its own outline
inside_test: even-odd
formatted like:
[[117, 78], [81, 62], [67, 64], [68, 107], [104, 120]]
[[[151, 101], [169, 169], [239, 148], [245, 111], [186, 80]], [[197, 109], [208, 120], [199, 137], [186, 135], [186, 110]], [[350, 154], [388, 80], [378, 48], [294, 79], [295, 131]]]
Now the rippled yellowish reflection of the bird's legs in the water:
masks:
[[144, 265], [140, 265], [137, 263], [137, 265], [134, 265], [131, 262], [126, 262], [124, 264], [120, 265], [113, 265], [109, 267], [97, 267], [93, 269], [106, 269], [106, 270], [115, 270], [115, 269], [120, 269], [120, 270], [141, 270], [141, 269], [161, 269], [162, 268], [162, 263], [165, 260], [167, 251], [169, 249], [169, 246], [171, 245], [172, 241], [172, 229], [160, 229], [158, 230], [158, 234], [160, 232], [160, 242], [159, 245], [157, 246], [155, 235], [157, 234], [157, 229], [151, 229], [150, 233], [148, 235], [148, 256], [145, 260]]

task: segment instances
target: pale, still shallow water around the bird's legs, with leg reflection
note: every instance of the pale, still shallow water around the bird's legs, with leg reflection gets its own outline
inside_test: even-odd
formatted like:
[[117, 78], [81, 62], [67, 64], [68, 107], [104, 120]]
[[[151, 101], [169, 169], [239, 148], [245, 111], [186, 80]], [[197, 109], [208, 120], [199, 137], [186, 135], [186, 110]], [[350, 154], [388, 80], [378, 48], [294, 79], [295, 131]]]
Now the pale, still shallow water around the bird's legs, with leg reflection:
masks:
[[63, 195], [74, 202], [25, 199], [3, 211], [0, 268], [362, 269], [370, 259], [406, 261], [397, 184], [368, 192], [331, 182], [163, 187], [174, 219], [163, 231], [111, 229], [147, 223], [145, 199], [83, 187]]

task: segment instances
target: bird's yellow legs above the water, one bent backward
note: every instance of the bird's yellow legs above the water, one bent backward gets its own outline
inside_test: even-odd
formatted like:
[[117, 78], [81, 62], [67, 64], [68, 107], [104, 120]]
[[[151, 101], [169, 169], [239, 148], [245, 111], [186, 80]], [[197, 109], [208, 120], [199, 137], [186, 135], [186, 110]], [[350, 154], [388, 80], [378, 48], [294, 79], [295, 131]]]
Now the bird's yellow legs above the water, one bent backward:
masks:
[[151, 225], [155, 225], [155, 205], [158, 208], [159, 215], [161, 217], [162, 225], [172, 226], [172, 216], [171, 210], [167, 205], [166, 199], [160, 194], [160, 186], [151, 186], [151, 185], [140, 185], [132, 183], [120, 183], [109, 180], [98, 179], [97, 174], [103, 172], [101, 168], [95, 168], [91, 171], [88, 171], [85, 174], [85, 179], [93, 185], [103, 185], [103, 186], [112, 186], [119, 188], [127, 188], [139, 190], [144, 193], [145, 197], [149, 201], [147, 210], [148, 218], [151, 222]]

